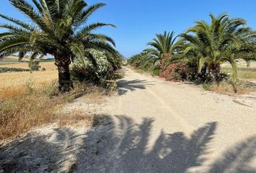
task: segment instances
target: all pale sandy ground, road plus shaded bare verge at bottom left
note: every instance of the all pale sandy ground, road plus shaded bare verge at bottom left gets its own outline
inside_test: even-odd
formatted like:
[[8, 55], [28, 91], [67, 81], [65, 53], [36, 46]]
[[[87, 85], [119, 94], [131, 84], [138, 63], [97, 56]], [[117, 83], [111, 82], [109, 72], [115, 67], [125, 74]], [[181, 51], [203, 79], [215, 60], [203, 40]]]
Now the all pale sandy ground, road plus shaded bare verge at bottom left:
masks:
[[255, 94], [125, 71], [100, 109], [69, 105], [103, 115], [98, 126], [48, 125], [3, 143], [0, 172], [256, 172]]

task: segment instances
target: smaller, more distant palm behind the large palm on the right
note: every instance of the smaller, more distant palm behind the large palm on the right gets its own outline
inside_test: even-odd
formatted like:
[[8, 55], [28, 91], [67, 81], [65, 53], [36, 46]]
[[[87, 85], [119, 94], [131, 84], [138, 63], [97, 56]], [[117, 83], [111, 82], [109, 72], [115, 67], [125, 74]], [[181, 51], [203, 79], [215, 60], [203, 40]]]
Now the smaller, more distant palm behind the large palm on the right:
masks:
[[174, 42], [176, 37], [174, 37], [174, 32], [163, 32], [162, 34], [156, 34], [156, 37], [153, 38], [152, 42], [147, 43], [147, 45], [153, 47], [148, 48], [145, 51], [150, 53], [151, 58], [148, 58], [148, 61], [153, 63], [163, 63], [174, 53], [175, 46]]

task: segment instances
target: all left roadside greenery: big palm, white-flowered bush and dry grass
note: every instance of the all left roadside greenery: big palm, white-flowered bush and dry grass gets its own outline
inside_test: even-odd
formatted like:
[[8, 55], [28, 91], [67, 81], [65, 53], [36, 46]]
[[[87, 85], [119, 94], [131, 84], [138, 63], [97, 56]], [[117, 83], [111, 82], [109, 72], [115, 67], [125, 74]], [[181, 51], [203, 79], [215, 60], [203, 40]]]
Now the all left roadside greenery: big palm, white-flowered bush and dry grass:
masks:
[[0, 139], [47, 123], [95, 124], [93, 115], [78, 110], [64, 115], [58, 110], [77, 97], [109, 94], [116, 87], [123, 58], [111, 37], [94, 32], [114, 25], [87, 22], [105, 4], [9, 1], [31, 23], [0, 14], [13, 23], [0, 25], [7, 29], [0, 33]]

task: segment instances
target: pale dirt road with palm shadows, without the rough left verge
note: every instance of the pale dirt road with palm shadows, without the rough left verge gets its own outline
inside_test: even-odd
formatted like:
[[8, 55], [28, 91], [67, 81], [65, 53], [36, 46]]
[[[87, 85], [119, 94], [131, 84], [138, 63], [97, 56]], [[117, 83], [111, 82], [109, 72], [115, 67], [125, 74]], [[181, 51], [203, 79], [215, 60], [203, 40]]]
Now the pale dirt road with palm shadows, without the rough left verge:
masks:
[[120, 139], [107, 172], [256, 172], [256, 98], [129, 69], [118, 84], [107, 107]]

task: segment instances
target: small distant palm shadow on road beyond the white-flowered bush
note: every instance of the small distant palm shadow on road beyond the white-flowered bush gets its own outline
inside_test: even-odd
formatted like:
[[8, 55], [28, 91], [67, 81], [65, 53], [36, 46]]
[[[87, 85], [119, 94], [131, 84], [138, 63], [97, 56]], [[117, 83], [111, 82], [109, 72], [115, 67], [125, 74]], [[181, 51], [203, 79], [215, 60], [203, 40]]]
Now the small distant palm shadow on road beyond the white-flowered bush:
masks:
[[117, 92], [119, 95], [124, 95], [127, 94], [127, 92], [133, 92], [136, 89], [146, 89], [147, 86], [153, 85], [150, 84], [150, 81], [146, 80], [132, 80], [132, 81], [127, 81], [127, 80], [119, 80], [116, 82], [118, 89]]

